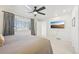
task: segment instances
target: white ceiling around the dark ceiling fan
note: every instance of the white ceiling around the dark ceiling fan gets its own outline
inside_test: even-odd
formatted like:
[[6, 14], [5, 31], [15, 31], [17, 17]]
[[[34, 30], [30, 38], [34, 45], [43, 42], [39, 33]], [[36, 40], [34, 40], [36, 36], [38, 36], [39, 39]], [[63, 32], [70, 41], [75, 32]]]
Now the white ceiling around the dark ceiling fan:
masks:
[[[66, 14], [70, 14], [74, 7], [72, 5], [44, 5], [44, 6], [46, 7], [46, 9], [42, 10], [41, 12], [45, 13], [46, 15], [37, 14], [36, 18], [45, 20], [56, 16], [63, 16]], [[37, 8], [40, 7], [42, 7], [42, 5], [37, 5]], [[18, 5], [16, 6], [16, 8], [18, 9], [18, 12], [19, 10], [23, 11], [22, 12], [23, 15], [28, 16], [29, 18], [34, 17], [33, 13], [28, 13], [34, 10], [34, 5], [28, 5], [28, 6]]]

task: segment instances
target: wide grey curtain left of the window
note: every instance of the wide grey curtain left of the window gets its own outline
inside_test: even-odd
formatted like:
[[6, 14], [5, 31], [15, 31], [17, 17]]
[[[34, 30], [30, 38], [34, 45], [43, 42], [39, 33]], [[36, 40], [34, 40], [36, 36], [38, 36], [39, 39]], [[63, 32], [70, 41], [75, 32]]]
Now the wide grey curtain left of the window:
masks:
[[4, 12], [3, 17], [3, 35], [14, 35], [14, 18], [15, 15], [10, 12]]

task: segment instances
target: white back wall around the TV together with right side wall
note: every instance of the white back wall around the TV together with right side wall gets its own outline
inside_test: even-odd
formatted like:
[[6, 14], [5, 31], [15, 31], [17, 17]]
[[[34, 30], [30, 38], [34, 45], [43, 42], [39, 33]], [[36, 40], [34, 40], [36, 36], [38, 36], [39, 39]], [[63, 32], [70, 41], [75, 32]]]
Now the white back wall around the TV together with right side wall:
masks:
[[[76, 53], [79, 53], [79, 6], [75, 6], [72, 9], [72, 13], [64, 16], [55, 17], [53, 19], [63, 19], [65, 21], [64, 29], [50, 29], [50, 25], [47, 21], [47, 36], [56, 39], [60, 38], [61, 40], [67, 40], [72, 42], [72, 46], [75, 49]], [[74, 22], [72, 21], [73, 17], [75, 17], [75, 27], [72, 25]]]

